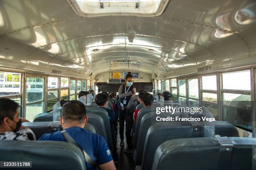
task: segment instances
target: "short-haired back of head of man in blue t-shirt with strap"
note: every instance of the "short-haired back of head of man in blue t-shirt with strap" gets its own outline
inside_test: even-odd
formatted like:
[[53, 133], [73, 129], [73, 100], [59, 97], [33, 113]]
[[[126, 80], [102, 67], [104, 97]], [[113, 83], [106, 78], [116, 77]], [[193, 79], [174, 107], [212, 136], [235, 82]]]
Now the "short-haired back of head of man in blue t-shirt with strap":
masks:
[[72, 126], [84, 128], [87, 120], [85, 105], [82, 102], [70, 100], [63, 105], [60, 117], [63, 128]]

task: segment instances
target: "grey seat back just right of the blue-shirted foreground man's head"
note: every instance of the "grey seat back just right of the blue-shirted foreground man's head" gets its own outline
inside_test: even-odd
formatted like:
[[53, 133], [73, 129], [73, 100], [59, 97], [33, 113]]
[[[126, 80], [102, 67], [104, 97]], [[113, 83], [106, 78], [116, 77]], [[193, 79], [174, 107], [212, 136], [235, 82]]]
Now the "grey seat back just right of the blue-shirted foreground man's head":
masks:
[[102, 117], [94, 113], [88, 113], [87, 116], [88, 116], [87, 123], [90, 123], [95, 128], [95, 132], [98, 135], [103, 136], [106, 142], [108, 143], [107, 133], [106, 133], [106, 129], [105, 129], [105, 125]]

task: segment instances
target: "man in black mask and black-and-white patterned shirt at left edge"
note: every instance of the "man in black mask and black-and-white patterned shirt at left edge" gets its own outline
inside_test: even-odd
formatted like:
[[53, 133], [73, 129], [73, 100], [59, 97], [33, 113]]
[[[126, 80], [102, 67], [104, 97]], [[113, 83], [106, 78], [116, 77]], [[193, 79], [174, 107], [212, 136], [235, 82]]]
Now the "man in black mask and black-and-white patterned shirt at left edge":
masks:
[[19, 117], [18, 107], [13, 100], [0, 99], [0, 140], [36, 140], [32, 130], [21, 125], [29, 121]]

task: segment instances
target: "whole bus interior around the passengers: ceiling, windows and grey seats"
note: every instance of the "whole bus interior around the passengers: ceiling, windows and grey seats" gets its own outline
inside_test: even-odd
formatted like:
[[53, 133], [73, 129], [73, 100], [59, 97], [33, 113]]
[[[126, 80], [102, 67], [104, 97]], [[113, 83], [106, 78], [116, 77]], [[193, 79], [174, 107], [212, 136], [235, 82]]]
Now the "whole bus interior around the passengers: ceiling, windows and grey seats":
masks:
[[[132, 153], [119, 145], [119, 126], [112, 140], [94, 97], [86, 102], [84, 129], [116, 147], [118, 170], [256, 168], [255, 0], [0, 0], [0, 99], [18, 103], [36, 139], [62, 130], [60, 100], [118, 95], [128, 72], [135, 108], [144, 107], [139, 91], [154, 97], [138, 112]], [[153, 121], [154, 108], [169, 105], [166, 91], [193, 120]], [[64, 142], [0, 141], [0, 153], [32, 169], [86, 170], [81, 150]]]

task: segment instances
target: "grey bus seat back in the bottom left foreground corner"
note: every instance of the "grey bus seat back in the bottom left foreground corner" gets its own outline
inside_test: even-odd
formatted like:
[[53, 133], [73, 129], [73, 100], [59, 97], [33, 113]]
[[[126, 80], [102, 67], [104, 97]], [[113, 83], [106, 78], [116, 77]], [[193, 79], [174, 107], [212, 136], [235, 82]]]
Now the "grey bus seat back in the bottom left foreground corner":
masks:
[[36, 170], [86, 170], [82, 151], [67, 142], [0, 141], [0, 153], [0, 160], [31, 161]]

